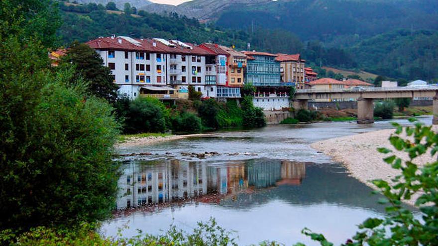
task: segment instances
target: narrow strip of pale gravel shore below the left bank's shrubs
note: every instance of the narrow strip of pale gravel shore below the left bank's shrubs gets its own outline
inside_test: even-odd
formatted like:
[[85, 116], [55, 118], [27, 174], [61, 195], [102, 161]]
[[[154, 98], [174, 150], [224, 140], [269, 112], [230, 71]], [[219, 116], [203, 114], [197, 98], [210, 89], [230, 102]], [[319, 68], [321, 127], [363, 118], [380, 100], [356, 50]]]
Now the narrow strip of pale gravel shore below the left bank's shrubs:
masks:
[[122, 148], [128, 148], [128, 147], [140, 146], [140, 145], [152, 145], [152, 144], [158, 144], [167, 141], [174, 141], [174, 140], [195, 138], [195, 137], [205, 137], [210, 135], [211, 133], [199, 133], [199, 134], [186, 134], [186, 135], [170, 135], [165, 137], [156, 137], [156, 136], [131, 137], [126, 139], [126, 141], [123, 143], [116, 143], [114, 145], [114, 148], [122, 149]]

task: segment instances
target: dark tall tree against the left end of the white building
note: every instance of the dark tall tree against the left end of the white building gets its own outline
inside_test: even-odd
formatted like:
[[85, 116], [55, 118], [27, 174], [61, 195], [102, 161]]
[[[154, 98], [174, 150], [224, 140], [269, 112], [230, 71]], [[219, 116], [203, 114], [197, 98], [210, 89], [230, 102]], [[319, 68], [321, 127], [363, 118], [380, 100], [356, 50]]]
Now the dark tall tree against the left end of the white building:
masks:
[[101, 56], [86, 44], [74, 42], [62, 59], [62, 66], [73, 64], [76, 68], [74, 81], [79, 77], [89, 81], [90, 92], [98, 97], [105, 98], [109, 103], [117, 99], [118, 86], [113, 82], [111, 70], [103, 66]]

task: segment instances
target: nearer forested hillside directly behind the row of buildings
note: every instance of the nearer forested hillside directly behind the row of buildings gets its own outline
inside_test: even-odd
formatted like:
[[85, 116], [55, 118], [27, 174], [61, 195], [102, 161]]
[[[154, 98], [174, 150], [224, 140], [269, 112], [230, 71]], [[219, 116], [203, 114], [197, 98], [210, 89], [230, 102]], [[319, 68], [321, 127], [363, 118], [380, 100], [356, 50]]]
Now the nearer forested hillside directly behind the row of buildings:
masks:
[[[162, 37], [197, 44], [217, 42], [226, 46], [235, 45], [241, 50], [251, 43], [251, 49], [259, 51], [301, 53], [314, 67], [365, 70], [393, 79], [438, 80], [438, 34], [434, 28], [429, 28], [429, 31], [415, 28], [390, 30], [377, 35], [326, 35], [319, 40], [303, 41], [306, 39], [300, 39], [290, 31], [261, 27], [257, 22], [254, 28], [251, 25], [233, 29], [213, 23], [200, 24], [196, 19], [175, 13], [158, 15], [138, 10], [136, 14], [125, 14], [109, 10], [102, 4], [61, 2], [59, 5], [64, 21], [59, 35], [64, 45], [74, 40], [85, 42], [111, 34]], [[134, 13], [133, 10], [128, 12]], [[428, 21], [432, 23], [437, 18]]]

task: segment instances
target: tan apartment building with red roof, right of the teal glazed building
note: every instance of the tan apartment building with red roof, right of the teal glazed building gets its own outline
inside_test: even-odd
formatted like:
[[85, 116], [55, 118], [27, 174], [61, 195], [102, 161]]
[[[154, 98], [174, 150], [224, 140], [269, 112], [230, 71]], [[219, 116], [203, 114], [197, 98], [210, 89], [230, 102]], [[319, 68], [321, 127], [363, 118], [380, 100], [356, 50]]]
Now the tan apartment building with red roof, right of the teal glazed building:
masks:
[[275, 60], [280, 62], [281, 82], [294, 85], [298, 89], [304, 89], [306, 61], [301, 59], [301, 55], [279, 53]]

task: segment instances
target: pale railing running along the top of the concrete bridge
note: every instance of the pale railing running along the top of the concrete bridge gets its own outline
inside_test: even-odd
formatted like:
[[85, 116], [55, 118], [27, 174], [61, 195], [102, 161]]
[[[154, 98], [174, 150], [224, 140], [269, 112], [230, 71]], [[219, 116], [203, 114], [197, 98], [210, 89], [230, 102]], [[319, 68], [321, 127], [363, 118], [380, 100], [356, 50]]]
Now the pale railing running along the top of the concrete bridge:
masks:
[[369, 87], [369, 88], [335, 88], [335, 89], [298, 89], [297, 93], [337, 93], [337, 92], [392, 92], [392, 91], [438, 91], [438, 86], [424, 87]]

